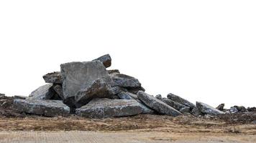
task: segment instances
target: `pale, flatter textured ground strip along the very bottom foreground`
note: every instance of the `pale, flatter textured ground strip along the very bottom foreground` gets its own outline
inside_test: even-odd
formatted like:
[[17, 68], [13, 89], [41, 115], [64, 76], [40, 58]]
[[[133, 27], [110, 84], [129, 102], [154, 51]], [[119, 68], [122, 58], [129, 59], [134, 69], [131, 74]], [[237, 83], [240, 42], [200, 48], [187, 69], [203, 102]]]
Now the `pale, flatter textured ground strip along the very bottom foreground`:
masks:
[[0, 142], [19, 143], [219, 143], [219, 142], [255, 142], [253, 135], [224, 135], [224, 134], [173, 134], [166, 132], [0, 132]]

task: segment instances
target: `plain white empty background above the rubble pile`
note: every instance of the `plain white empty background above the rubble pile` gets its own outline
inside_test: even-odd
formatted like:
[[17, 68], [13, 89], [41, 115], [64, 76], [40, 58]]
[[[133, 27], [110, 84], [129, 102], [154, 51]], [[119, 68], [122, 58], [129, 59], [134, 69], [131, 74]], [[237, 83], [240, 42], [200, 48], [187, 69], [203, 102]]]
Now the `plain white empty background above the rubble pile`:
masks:
[[149, 94], [256, 106], [255, 1], [0, 1], [0, 92], [111, 54]]

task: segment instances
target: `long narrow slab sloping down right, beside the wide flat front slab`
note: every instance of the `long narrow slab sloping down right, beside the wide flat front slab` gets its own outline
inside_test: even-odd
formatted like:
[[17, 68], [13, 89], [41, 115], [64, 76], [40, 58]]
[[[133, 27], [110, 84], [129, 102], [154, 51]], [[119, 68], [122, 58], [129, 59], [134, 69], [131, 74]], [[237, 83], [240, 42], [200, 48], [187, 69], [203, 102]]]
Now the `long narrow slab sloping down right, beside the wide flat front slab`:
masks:
[[174, 117], [181, 114], [180, 112], [178, 112], [178, 110], [174, 109], [173, 107], [170, 107], [168, 104], [165, 104], [165, 102], [162, 102], [159, 99], [149, 94], [146, 94], [145, 92], [139, 91], [137, 93], [137, 96], [144, 104], [147, 105], [147, 107], [154, 109], [156, 112], [159, 112], [160, 114], [167, 114]]

